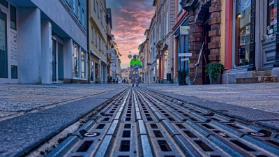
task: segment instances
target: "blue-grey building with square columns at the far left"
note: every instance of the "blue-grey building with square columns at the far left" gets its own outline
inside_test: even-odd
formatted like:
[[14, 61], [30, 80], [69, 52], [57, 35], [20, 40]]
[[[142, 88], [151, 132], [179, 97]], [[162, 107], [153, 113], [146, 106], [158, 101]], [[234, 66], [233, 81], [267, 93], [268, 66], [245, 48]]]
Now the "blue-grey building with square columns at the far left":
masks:
[[0, 82], [86, 82], [85, 2], [1, 0]]

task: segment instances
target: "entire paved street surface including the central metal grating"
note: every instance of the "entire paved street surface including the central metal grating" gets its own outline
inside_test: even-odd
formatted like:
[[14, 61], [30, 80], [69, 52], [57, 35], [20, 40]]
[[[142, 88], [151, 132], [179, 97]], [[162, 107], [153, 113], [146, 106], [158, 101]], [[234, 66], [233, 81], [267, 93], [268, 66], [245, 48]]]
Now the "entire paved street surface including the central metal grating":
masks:
[[[1, 105], [1, 156], [279, 154], [279, 114], [269, 107], [278, 97], [264, 100], [266, 110], [264, 105], [257, 108], [215, 100], [213, 96], [220, 89], [224, 96], [232, 89], [229, 85], [100, 84], [98, 88], [87, 85], [86, 90], [94, 94], [85, 95], [76, 91], [78, 85], [1, 85], [1, 104], [13, 101], [29, 107], [15, 111]], [[16, 103], [23, 87], [33, 97], [29, 100], [36, 103]], [[269, 87], [279, 90], [278, 84], [239, 85], [246, 94], [256, 96]], [[204, 95], [187, 95], [183, 93], [186, 89]], [[65, 91], [76, 97], [63, 98]], [[43, 99], [45, 96], [49, 99]]]

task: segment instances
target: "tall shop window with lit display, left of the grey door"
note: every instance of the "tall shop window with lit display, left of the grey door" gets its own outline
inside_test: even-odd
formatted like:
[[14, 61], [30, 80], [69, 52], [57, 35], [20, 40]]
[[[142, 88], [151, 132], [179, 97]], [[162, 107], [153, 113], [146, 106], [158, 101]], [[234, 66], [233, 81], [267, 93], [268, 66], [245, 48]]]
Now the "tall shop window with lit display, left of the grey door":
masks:
[[250, 59], [251, 3], [236, 1], [236, 66], [246, 66]]

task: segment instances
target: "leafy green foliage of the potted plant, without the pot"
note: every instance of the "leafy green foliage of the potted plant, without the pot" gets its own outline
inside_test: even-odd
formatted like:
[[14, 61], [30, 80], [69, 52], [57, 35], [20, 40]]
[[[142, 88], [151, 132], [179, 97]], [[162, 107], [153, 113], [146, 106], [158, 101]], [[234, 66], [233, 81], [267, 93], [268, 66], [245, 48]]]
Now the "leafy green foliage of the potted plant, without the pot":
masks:
[[205, 73], [209, 75], [211, 78], [211, 84], [213, 80], [216, 80], [218, 78], [219, 73], [221, 73], [224, 70], [224, 66], [222, 63], [209, 63], [207, 64], [205, 68]]

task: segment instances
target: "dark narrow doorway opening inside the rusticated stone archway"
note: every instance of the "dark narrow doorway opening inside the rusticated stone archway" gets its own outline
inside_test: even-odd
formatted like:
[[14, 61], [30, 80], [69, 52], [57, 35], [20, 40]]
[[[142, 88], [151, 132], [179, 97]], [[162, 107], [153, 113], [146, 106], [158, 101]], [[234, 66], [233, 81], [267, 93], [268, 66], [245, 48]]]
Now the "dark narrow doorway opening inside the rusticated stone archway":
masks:
[[204, 18], [204, 30], [203, 30], [203, 37], [204, 37], [204, 56], [202, 56], [202, 84], [210, 84], [209, 76], [205, 73], [206, 65], [209, 63], [209, 54], [210, 50], [208, 48], [209, 43], [211, 43], [211, 38], [209, 37], [209, 31], [211, 30], [211, 26], [209, 25], [209, 18], [211, 14], [207, 13], [206, 17]]

